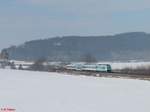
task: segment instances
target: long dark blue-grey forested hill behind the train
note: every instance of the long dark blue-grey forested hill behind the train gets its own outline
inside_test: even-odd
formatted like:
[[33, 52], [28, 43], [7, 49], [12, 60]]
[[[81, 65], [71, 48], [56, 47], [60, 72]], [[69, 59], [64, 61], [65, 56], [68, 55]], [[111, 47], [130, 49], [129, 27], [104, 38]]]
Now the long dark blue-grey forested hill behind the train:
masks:
[[112, 36], [64, 36], [25, 42], [6, 48], [11, 59], [82, 61], [150, 60], [150, 34], [122, 33]]

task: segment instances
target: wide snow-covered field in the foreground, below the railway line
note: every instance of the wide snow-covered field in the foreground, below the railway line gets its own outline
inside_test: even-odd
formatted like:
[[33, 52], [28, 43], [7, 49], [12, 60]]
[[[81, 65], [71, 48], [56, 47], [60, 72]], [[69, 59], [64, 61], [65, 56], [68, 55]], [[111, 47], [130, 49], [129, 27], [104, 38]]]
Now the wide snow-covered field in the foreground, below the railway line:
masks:
[[0, 108], [15, 112], [150, 112], [150, 82], [0, 69]]

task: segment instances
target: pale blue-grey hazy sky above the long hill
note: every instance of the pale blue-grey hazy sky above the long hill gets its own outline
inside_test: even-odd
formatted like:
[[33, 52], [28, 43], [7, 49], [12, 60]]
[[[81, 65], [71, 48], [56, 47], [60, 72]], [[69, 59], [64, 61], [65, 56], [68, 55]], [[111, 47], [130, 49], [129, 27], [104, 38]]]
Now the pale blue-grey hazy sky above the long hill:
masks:
[[0, 0], [0, 49], [65, 35], [150, 33], [150, 0]]

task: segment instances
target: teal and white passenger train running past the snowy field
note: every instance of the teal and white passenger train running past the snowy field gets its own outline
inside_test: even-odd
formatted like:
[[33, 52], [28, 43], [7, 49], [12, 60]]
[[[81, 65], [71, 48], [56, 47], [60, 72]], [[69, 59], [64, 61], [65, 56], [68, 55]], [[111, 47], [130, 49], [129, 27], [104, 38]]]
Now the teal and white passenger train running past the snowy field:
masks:
[[94, 72], [112, 72], [110, 64], [70, 64], [66, 69]]

